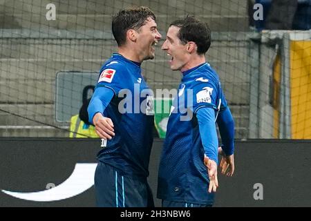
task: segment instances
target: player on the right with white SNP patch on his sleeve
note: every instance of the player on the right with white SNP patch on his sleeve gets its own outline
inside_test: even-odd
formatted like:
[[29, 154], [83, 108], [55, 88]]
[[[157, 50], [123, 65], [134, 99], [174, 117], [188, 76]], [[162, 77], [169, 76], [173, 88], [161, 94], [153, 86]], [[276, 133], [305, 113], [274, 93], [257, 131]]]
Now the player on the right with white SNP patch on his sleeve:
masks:
[[165, 207], [214, 204], [218, 151], [222, 173], [234, 173], [234, 119], [219, 77], [205, 60], [210, 45], [209, 27], [194, 17], [173, 21], [162, 45], [171, 69], [182, 72], [160, 158], [158, 198]]

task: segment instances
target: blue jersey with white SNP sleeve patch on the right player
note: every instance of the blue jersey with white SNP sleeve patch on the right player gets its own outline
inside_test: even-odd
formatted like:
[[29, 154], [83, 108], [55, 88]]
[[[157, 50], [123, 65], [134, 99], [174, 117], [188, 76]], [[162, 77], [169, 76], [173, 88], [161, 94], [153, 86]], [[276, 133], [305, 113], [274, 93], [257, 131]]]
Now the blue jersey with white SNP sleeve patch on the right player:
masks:
[[227, 102], [216, 72], [205, 63], [182, 73], [167, 124], [158, 175], [158, 198], [176, 202], [212, 204], [196, 113], [212, 108], [217, 117]]

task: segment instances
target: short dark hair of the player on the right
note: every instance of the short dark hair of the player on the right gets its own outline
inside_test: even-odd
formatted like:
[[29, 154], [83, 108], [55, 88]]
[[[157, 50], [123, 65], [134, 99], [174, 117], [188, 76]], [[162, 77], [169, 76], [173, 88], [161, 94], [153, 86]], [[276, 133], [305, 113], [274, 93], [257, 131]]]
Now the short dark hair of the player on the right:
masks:
[[211, 46], [211, 30], [207, 23], [199, 21], [195, 17], [187, 16], [185, 19], [173, 21], [170, 26], [180, 28], [178, 38], [182, 44], [194, 41], [198, 46], [198, 55], [205, 54]]

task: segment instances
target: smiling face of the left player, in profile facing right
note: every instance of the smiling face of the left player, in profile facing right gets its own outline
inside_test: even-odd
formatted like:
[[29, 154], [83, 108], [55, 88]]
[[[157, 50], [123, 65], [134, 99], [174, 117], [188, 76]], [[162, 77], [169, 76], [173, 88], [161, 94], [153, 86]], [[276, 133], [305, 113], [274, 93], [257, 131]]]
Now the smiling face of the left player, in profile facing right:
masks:
[[153, 59], [155, 56], [154, 46], [161, 38], [157, 29], [156, 21], [149, 17], [146, 23], [140, 27], [137, 35], [138, 53], [141, 61]]

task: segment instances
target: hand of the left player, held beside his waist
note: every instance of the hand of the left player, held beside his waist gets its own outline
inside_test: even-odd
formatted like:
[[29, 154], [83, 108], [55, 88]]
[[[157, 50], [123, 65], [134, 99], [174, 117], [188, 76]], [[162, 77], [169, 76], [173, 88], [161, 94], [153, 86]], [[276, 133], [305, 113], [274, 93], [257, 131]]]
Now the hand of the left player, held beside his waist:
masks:
[[96, 113], [93, 117], [93, 124], [95, 125], [95, 131], [100, 138], [112, 139], [115, 135], [113, 129], [113, 122], [110, 118], [104, 117], [102, 113]]

